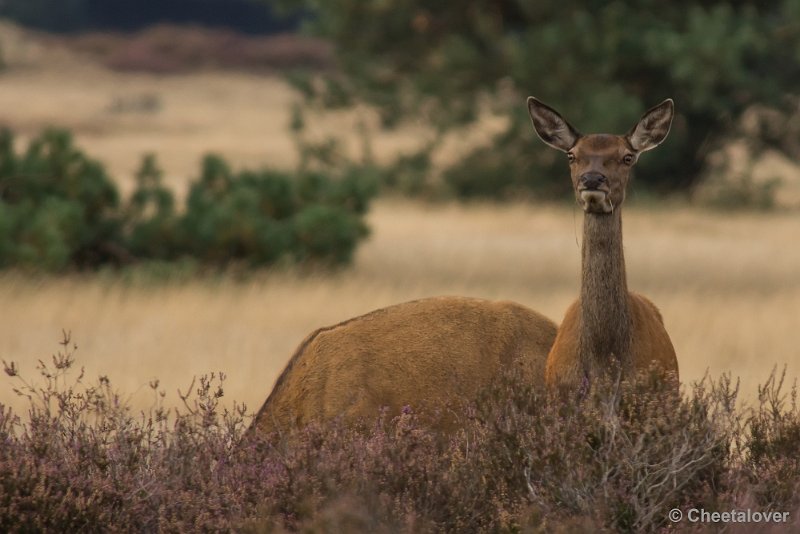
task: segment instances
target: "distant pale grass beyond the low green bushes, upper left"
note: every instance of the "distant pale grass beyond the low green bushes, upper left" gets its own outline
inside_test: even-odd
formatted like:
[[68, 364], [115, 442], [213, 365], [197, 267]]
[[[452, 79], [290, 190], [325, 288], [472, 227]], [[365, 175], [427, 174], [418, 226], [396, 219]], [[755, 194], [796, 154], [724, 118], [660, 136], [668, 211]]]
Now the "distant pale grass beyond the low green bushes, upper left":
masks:
[[[10, 65], [0, 72], [0, 127], [18, 135], [20, 148], [46, 127], [68, 128], [80, 147], [103, 161], [123, 193], [148, 152], [158, 155], [166, 184], [179, 196], [208, 152], [250, 168], [296, 163], [287, 127], [299, 98], [279, 76], [113, 72], [63, 45], [45, 43], [50, 41], [0, 20], [0, 48]], [[356, 124], [375, 120], [364, 110], [312, 115], [306, 134], [335, 133], [357, 153]], [[425, 134], [408, 127], [375, 136], [374, 154], [385, 160], [416, 147]]]

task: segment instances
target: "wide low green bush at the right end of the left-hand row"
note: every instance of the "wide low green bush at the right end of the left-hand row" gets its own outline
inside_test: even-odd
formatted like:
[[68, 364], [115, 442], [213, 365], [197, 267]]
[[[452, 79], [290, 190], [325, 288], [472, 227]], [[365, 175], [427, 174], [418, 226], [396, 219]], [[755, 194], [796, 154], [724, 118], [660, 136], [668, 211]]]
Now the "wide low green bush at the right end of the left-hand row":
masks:
[[361, 216], [375, 194], [370, 172], [348, 169], [338, 179], [319, 172], [231, 173], [207, 156], [180, 220], [183, 249], [212, 264], [346, 264], [367, 235]]

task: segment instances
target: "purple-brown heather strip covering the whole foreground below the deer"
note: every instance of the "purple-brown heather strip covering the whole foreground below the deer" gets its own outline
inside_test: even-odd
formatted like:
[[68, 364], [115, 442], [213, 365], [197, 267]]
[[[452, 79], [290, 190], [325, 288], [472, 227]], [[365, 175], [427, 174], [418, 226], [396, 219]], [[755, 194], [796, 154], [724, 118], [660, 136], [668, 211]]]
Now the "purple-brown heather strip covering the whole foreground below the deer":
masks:
[[223, 406], [219, 373], [173, 410], [153, 381], [134, 413], [108, 379], [75, 373], [68, 336], [38, 381], [4, 363], [29, 399], [27, 414], [0, 408], [7, 532], [655, 532], [696, 527], [671, 525], [671, 508], [800, 511], [795, 390], [774, 375], [750, 408], [726, 377], [578, 398], [512, 375], [451, 407], [445, 435], [406, 407], [259, 436], [244, 406]]

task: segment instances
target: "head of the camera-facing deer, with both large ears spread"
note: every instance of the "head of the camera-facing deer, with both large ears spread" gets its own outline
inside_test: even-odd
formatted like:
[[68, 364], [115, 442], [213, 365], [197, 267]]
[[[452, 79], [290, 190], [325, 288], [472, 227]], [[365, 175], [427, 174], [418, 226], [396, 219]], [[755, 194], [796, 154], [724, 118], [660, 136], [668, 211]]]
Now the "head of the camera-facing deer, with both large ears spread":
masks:
[[550, 106], [528, 97], [539, 137], [567, 153], [575, 197], [586, 213], [611, 213], [625, 200], [631, 167], [639, 154], [657, 147], [669, 133], [674, 105], [667, 99], [647, 111], [625, 135], [582, 135]]

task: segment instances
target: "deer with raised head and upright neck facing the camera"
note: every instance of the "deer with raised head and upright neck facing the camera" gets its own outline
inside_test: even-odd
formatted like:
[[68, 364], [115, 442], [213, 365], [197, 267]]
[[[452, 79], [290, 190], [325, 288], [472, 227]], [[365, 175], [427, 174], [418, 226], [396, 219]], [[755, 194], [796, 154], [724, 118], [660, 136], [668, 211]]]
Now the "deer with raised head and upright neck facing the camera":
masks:
[[580, 296], [567, 309], [545, 364], [551, 389], [586, 393], [592, 380], [633, 378], [653, 368], [678, 380], [678, 361], [658, 308], [628, 290], [622, 205], [639, 156], [669, 134], [671, 99], [650, 108], [625, 135], [583, 135], [556, 110], [527, 100], [533, 128], [566, 153], [575, 199], [583, 209]]

